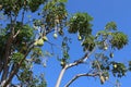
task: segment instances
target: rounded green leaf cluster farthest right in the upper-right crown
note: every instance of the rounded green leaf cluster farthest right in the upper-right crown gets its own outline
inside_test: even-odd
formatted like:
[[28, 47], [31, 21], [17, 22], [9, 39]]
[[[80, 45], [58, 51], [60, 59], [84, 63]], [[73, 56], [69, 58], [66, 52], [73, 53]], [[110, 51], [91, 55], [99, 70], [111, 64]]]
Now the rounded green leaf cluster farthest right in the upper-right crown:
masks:
[[112, 39], [110, 40], [112, 48], [122, 49], [128, 44], [128, 37], [121, 32], [112, 34]]

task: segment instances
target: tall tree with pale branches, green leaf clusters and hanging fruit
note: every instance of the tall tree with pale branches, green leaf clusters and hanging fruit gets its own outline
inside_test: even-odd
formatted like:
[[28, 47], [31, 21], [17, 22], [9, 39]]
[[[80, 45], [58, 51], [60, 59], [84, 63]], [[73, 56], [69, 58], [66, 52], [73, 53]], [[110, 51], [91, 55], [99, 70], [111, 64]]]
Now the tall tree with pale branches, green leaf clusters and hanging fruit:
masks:
[[[0, 1], [0, 13], [3, 15], [0, 17], [0, 85], [2, 87], [16, 86], [12, 83], [13, 78], [20, 82], [20, 86], [47, 86], [44, 75], [34, 76], [32, 71], [33, 65], [45, 65], [46, 62], [43, 61], [56, 53], [45, 51], [43, 49], [45, 42], [62, 51], [62, 57], [56, 59], [62, 67], [56, 87], [60, 87], [67, 70], [86, 61], [92, 63], [90, 73], [75, 75], [66, 87], [81, 76], [96, 76], [104, 84], [111, 73], [115, 77], [122, 77], [131, 69], [131, 62], [127, 67], [123, 63], [111, 60], [114, 51], [122, 49], [128, 44], [127, 35], [119, 32], [116, 23], [107, 23], [103, 30], [93, 35], [93, 17], [87, 13], [75, 13], [70, 16], [66, 2], [67, 0]], [[35, 16], [32, 16], [34, 14]], [[84, 52], [84, 55], [74, 62], [70, 62], [71, 39], [66, 36], [67, 30], [68, 34], [78, 34], [78, 40]], [[55, 39], [59, 38], [58, 36], [63, 38], [61, 46], [48, 40], [47, 36], [50, 34]]]

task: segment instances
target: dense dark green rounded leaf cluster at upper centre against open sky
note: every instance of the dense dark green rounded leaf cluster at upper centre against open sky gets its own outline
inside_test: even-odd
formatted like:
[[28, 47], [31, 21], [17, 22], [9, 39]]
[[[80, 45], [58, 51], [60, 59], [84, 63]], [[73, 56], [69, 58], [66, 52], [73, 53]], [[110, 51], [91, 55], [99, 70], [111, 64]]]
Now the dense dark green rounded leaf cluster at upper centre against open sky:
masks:
[[76, 13], [69, 21], [69, 33], [79, 33], [80, 36], [87, 37], [92, 34], [93, 17], [87, 13]]

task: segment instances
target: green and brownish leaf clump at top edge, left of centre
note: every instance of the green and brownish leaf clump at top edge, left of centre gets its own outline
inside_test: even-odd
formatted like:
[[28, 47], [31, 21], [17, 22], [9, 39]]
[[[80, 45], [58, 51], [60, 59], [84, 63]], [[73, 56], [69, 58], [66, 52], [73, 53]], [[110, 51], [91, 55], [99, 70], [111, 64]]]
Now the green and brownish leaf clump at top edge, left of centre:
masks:
[[59, 24], [61, 27], [62, 20], [66, 20], [67, 17], [67, 10], [64, 7], [64, 3], [62, 2], [48, 2], [45, 8], [44, 12], [46, 12], [46, 25], [51, 27], [55, 27], [57, 24]]

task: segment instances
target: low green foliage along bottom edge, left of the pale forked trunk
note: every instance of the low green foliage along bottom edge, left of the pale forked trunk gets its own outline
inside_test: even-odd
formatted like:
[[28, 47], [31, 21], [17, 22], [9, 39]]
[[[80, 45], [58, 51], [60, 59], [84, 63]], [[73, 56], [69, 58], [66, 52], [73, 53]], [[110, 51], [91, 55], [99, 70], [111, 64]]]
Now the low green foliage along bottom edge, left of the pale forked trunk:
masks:
[[43, 74], [33, 76], [33, 72], [27, 69], [20, 72], [19, 79], [21, 80], [22, 86], [25, 87], [47, 87], [47, 83]]

